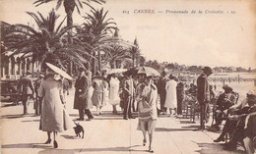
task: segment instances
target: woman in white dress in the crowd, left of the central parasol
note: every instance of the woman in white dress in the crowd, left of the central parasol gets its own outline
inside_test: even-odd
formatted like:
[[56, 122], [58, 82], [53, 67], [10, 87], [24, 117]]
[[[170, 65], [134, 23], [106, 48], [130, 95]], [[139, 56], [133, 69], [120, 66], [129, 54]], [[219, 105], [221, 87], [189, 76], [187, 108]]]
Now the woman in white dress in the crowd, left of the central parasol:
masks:
[[120, 104], [119, 79], [113, 75], [109, 81], [109, 104], [113, 106], [113, 114], [117, 114], [116, 105]]

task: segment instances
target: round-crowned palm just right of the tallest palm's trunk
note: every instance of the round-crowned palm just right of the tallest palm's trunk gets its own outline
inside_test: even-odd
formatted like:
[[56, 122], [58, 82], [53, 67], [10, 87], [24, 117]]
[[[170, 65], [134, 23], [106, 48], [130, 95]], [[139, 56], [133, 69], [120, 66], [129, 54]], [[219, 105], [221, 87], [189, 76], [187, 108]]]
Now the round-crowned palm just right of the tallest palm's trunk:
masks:
[[[112, 29], [116, 29], [116, 24], [112, 18], [106, 19], [106, 15], [108, 11], [104, 12], [103, 8], [100, 10], [96, 10], [92, 8], [91, 14], [86, 13], [84, 16], [85, 24], [83, 24], [82, 28], [79, 32], [79, 37], [86, 44], [91, 44], [93, 49], [91, 53], [96, 55], [97, 53], [97, 61], [98, 61], [98, 69], [101, 71], [101, 57], [100, 51], [114, 39], [112, 37]], [[96, 73], [96, 62], [93, 61], [93, 73]]]

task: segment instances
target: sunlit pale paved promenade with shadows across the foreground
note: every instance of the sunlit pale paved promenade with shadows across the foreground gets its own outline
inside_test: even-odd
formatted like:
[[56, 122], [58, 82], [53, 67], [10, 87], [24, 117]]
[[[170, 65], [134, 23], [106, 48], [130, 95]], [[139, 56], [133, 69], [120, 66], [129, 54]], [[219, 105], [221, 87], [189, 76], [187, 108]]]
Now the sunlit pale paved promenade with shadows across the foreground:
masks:
[[[73, 120], [78, 118], [78, 111], [73, 110], [73, 94], [68, 96], [67, 109]], [[10, 104], [10, 103], [9, 103]], [[6, 105], [6, 103], [2, 104]], [[33, 113], [32, 104], [30, 113]], [[103, 108], [103, 115], [96, 116], [91, 122], [79, 122], [85, 128], [85, 138], [75, 136], [74, 130], [58, 133], [59, 147], [54, 149], [46, 141], [46, 132], [40, 131], [39, 117], [33, 114], [22, 117], [23, 106], [6, 106], [1, 112], [1, 141], [3, 154], [141, 154], [148, 153], [148, 145], [142, 146], [143, 135], [137, 130], [138, 119], [125, 121], [122, 115], [112, 115], [111, 106]], [[95, 114], [95, 110], [93, 109]], [[120, 111], [119, 111], [120, 113]], [[85, 116], [86, 117], [86, 116]], [[157, 154], [227, 154], [223, 147], [213, 142], [220, 132], [198, 130], [189, 119], [176, 119], [160, 116], [154, 134], [154, 150]]]

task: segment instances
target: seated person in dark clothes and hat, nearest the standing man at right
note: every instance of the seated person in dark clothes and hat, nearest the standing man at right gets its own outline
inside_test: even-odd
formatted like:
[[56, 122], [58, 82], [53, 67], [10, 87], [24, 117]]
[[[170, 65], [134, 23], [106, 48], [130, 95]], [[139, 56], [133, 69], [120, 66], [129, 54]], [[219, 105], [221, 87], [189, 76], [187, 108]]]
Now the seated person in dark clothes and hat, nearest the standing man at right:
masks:
[[224, 120], [224, 117], [226, 116], [224, 111], [229, 109], [231, 106], [236, 104], [237, 101], [237, 94], [233, 92], [233, 89], [225, 84], [223, 86], [224, 93], [222, 93], [218, 99], [217, 99], [217, 108], [216, 112], [214, 114], [216, 118], [216, 124], [213, 126], [213, 128], [216, 128], [217, 130], [220, 130], [220, 126]]

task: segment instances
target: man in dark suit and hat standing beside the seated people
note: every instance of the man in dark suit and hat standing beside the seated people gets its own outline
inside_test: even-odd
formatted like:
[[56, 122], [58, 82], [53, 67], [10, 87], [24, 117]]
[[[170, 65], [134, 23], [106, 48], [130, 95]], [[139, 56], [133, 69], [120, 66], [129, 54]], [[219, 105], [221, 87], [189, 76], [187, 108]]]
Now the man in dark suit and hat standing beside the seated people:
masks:
[[197, 100], [200, 104], [200, 129], [205, 129], [205, 123], [208, 121], [207, 108], [210, 102], [210, 85], [208, 77], [213, 74], [210, 67], [203, 69], [203, 74], [197, 78]]

